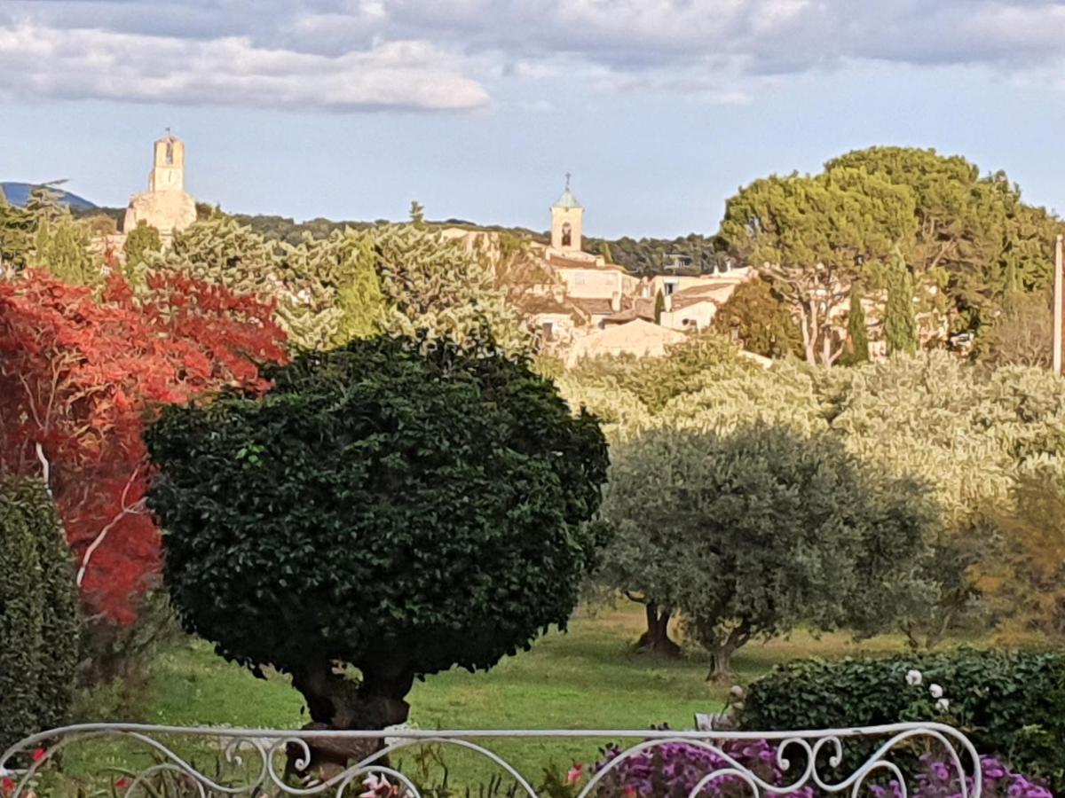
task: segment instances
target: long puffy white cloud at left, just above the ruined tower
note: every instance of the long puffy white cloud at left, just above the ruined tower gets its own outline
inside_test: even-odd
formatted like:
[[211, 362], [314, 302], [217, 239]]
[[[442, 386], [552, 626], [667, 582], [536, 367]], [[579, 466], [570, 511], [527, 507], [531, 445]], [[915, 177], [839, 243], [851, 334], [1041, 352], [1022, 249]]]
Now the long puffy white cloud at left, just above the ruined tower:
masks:
[[340, 55], [257, 46], [246, 36], [178, 38], [35, 24], [0, 28], [0, 92], [134, 102], [465, 110], [488, 93], [424, 40]]

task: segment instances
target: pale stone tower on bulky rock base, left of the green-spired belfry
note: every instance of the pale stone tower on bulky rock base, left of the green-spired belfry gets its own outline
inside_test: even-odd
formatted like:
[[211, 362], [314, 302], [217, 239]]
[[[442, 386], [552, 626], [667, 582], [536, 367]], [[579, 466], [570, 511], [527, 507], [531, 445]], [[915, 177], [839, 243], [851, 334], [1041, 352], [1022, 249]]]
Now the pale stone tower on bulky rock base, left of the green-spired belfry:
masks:
[[169, 129], [155, 142], [148, 190], [130, 199], [122, 232], [131, 232], [142, 221], [159, 230], [164, 239], [196, 221], [196, 200], [185, 192], [185, 143]]

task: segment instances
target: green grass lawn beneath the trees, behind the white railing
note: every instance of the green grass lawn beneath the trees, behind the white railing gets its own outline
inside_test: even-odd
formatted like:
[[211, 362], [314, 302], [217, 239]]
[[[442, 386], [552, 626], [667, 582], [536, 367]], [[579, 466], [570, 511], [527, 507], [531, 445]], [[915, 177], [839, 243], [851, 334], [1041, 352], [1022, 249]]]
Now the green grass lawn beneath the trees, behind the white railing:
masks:
[[[423, 729], [646, 729], [655, 724], [691, 728], [697, 712], [722, 706], [727, 687], [705, 681], [707, 656], [694, 649], [667, 661], [633, 650], [643, 622], [639, 606], [580, 610], [566, 633], [553, 631], [527, 652], [487, 672], [452, 670], [416, 683], [411, 721]], [[752, 644], [736, 656], [737, 680], [747, 682], [775, 663], [817, 653], [841, 656], [898, 650], [897, 638], [858, 645], [846, 635]], [[141, 711], [124, 719], [152, 724], [298, 728], [308, 720], [302, 700], [279, 676], [267, 680], [227, 664], [202, 642], [161, 655]], [[119, 719], [119, 718], [112, 718]], [[499, 741], [490, 747], [538, 780], [548, 765], [594, 759], [602, 742]], [[449, 754], [460, 777], [474, 768], [466, 754]], [[477, 776], [482, 776], [478, 767]], [[484, 778], [487, 778], [485, 776]]]

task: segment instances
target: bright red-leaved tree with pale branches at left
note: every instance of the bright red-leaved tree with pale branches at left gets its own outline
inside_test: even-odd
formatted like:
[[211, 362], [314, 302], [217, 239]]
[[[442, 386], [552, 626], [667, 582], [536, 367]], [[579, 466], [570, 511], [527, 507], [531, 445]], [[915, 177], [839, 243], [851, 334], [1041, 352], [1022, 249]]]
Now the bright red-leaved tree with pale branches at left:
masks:
[[160, 571], [144, 501], [152, 408], [265, 390], [259, 364], [284, 359], [272, 311], [173, 273], [136, 295], [112, 277], [98, 297], [0, 275], [0, 472], [48, 477], [91, 615], [130, 622]]

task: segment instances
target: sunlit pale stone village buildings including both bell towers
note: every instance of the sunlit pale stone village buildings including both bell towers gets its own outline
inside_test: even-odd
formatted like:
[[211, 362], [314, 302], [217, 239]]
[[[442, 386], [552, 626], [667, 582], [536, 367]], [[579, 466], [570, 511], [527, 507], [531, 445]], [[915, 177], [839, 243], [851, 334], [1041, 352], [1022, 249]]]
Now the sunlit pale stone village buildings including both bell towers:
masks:
[[[543, 343], [567, 363], [581, 358], [630, 354], [655, 356], [687, 334], [709, 327], [736, 286], [750, 279], [748, 267], [712, 275], [690, 275], [689, 259], [672, 255], [671, 273], [637, 277], [602, 254], [584, 250], [584, 206], [567, 176], [551, 205], [551, 242], [527, 242], [508, 296]], [[122, 231], [99, 236], [96, 249], [121, 253], [128, 233], [140, 223], [160, 232], [166, 246], [174, 233], [197, 218], [196, 200], [185, 190], [185, 143], [167, 133], [152, 149], [148, 189], [134, 195]], [[466, 227], [440, 229], [470, 252], [501, 257], [498, 233]]]

